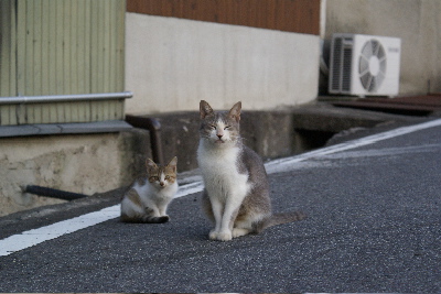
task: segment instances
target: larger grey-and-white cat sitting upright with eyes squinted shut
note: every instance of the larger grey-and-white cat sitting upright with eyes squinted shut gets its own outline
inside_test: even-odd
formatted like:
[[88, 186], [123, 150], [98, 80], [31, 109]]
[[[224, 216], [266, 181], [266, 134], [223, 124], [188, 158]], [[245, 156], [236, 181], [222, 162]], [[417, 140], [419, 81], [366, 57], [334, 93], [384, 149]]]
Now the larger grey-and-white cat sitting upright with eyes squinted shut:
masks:
[[228, 241], [305, 217], [302, 213], [271, 213], [263, 163], [241, 142], [240, 109], [241, 102], [229, 112], [214, 112], [204, 100], [200, 105], [197, 162], [205, 184], [203, 210], [215, 224], [212, 240]]

